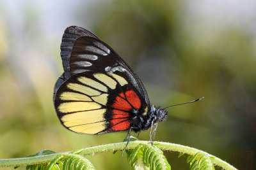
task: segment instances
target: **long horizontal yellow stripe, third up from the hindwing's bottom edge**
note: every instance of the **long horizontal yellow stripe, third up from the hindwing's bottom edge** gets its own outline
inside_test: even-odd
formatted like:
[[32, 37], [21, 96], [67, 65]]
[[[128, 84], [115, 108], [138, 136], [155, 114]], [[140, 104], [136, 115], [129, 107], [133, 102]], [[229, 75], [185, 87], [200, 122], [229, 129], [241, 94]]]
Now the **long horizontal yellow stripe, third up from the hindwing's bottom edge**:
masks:
[[101, 108], [101, 105], [95, 102], [82, 102], [82, 101], [61, 103], [60, 106], [58, 106], [58, 110], [61, 113], [95, 110], [100, 108]]

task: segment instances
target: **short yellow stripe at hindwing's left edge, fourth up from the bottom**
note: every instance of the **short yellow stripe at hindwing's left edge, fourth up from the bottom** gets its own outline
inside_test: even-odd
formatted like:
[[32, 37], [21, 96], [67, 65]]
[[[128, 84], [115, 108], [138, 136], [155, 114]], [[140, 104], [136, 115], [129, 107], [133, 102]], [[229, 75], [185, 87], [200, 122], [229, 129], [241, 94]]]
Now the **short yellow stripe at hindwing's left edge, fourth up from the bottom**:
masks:
[[90, 97], [84, 94], [79, 94], [74, 92], [63, 92], [60, 95], [60, 99], [63, 101], [92, 101]]

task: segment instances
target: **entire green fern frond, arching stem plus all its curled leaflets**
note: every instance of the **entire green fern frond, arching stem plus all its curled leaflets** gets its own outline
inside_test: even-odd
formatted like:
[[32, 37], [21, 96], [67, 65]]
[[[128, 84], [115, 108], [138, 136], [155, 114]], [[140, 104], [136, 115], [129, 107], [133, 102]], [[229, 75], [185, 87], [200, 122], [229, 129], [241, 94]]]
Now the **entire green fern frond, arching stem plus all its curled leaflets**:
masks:
[[[92, 164], [87, 159], [84, 159], [84, 156], [122, 150], [126, 144], [127, 142], [111, 143], [63, 153], [43, 150], [25, 158], [0, 159], [0, 167], [15, 166], [17, 168], [19, 166], [27, 166], [27, 169], [64, 169], [63, 167], [65, 169], [94, 169]], [[148, 141], [137, 141], [136, 139], [130, 141], [127, 158], [133, 169], [171, 169], [161, 150], [179, 152], [179, 157], [184, 154], [192, 155], [188, 157], [190, 169], [214, 169], [214, 166], [227, 170], [236, 169], [236, 167], [231, 166], [224, 160], [196, 148], [165, 142], [155, 142], [154, 145], [157, 147], [149, 145]]]

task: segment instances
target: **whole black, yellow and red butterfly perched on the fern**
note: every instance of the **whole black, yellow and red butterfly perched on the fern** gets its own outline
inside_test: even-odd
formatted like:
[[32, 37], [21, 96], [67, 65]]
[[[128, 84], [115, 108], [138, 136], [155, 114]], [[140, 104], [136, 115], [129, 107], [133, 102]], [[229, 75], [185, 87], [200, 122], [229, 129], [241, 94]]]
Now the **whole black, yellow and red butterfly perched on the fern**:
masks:
[[150, 104], [140, 78], [110, 46], [70, 26], [61, 41], [61, 59], [64, 73], [53, 100], [64, 127], [79, 134], [128, 131], [128, 142], [131, 131], [150, 128], [154, 140], [157, 123], [166, 120], [168, 111]]

